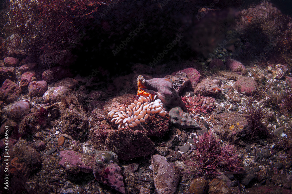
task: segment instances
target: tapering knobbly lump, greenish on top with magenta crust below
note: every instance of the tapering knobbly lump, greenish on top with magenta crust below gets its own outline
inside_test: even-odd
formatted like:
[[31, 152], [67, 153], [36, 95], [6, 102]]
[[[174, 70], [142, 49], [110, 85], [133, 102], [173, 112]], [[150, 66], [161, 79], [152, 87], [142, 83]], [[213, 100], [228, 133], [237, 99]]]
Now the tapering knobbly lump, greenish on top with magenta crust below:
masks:
[[117, 154], [111, 151], [97, 151], [92, 169], [95, 179], [121, 193], [126, 193], [124, 177]]

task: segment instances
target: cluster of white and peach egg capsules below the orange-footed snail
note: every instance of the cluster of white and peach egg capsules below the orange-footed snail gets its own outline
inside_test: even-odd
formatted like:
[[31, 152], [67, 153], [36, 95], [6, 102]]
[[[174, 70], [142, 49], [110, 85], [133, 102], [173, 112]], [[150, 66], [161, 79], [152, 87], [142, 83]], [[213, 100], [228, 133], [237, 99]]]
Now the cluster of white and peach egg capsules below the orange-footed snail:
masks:
[[136, 127], [138, 124], [145, 122], [150, 114], [156, 113], [161, 116], [165, 116], [167, 113], [161, 100], [157, 99], [152, 102], [148, 96], [140, 96], [138, 101], [134, 101], [126, 109], [112, 110], [107, 116], [112, 118], [112, 123], [118, 124], [118, 129], [121, 129]]

